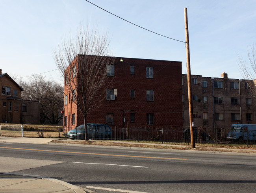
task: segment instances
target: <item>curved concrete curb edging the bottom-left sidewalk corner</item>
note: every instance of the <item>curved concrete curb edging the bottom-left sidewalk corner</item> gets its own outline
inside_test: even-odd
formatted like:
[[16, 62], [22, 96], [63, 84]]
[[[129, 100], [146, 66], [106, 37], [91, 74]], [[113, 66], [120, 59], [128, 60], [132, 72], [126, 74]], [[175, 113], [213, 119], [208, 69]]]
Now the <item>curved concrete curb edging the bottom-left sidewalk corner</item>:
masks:
[[32, 177], [32, 178], [39, 178], [39, 179], [43, 179], [43, 180], [49, 180], [51, 182], [54, 182], [54, 183], [58, 183], [62, 186], [65, 186], [71, 190], [74, 190], [74, 192], [76, 193], [95, 193], [94, 191], [91, 191], [89, 189], [86, 189], [86, 188], [82, 188], [82, 187], [79, 187], [79, 186], [75, 186], [73, 184], [69, 184], [67, 182], [64, 182], [64, 181], [61, 181], [61, 180], [58, 180], [58, 179], [55, 179], [55, 178], [49, 178], [49, 177], [43, 177], [43, 176], [39, 176], [39, 175], [30, 175], [30, 174], [22, 174], [22, 173], [14, 173], [14, 172], [0, 172], [0, 174], [6, 174], [6, 175], [17, 175], [17, 176], [27, 176], [27, 177]]

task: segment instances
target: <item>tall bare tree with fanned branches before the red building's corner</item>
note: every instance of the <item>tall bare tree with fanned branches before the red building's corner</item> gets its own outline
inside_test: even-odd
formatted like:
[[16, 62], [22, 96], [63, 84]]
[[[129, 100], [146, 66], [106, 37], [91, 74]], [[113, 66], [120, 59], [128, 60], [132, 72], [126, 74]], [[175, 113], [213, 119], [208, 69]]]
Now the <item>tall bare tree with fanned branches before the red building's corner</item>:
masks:
[[107, 34], [87, 26], [78, 29], [76, 38], [64, 39], [54, 51], [56, 65], [65, 78], [64, 92], [72, 93], [72, 100], [83, 115], [85, 140], [88, 140], [87, 115], [100, 106], [106, 88], [113, 81], [113, 77], [107, 76], [113, 67], [113, 57], [107, 56], [108, 47]]

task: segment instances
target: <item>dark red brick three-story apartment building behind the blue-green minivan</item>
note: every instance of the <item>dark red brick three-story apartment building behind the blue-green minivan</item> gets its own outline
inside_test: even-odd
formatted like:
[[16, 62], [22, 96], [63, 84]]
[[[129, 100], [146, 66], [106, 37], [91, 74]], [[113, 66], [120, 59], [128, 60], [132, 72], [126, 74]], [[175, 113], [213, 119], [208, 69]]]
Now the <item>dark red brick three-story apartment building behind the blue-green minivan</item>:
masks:
[[[113, 86], [101, 105], [87, 116], [87, 122], [128, 126], [154, 125], [182, 128], [182, 62], [137, 58], [114, 58], [109, 78]], [[108, 64], [106, 64], [108, 65]], [[76, 68], [79, 69], [79, 68]], [[72, 66], [67, 67], [72, 73]], [[83, 124], [76, 104], [64, 85], [65, 131]]]

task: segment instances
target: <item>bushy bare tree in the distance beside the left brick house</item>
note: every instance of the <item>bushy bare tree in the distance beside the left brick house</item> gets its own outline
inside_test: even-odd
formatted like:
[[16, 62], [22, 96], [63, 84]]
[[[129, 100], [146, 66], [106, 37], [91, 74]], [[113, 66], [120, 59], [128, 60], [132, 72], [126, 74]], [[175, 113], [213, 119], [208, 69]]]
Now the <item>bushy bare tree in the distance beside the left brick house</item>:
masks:
[[63, 118], [63, 87], [51, 80], [45, 80], [42, 75], [33, 75], [29, 82], [22, 82], [24, 89], [22, 98], [40, 102], [40, 122], [58, 124]]

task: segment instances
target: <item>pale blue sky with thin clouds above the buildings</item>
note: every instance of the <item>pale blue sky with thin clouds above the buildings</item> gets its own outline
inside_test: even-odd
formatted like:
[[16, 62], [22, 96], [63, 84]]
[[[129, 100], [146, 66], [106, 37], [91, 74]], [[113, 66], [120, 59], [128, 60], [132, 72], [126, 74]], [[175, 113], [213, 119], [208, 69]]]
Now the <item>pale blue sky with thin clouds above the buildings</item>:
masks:
[[[247, 58], [247, 48], [256, 42], [256, 0], [90, 1], [181, 41], [187, 7], [191, 74], [220, 77], [226, 72], [228, 78], [243, 78], [237, 54]], [[0, 69], [11, 76], [51, 71], [43, 75], [62, 81], [53, 49], [81, 23], [108, 31], [113, 56], [181, 61], [182, 73], [187, 73], [184, 43], [145, 31], [85, 0], [0, 0], [0, 18]]]

